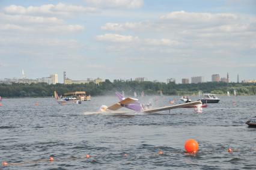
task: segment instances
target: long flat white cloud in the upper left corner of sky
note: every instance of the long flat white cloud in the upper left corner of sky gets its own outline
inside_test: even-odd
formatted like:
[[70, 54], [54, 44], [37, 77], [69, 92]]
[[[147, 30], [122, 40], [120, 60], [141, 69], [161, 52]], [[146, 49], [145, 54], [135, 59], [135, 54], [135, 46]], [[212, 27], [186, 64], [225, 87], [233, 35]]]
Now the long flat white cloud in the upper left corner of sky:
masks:
[[18, 5], [10, 5], [4, 8], [5, 13], [8, 14], [23, 14], [23, 15], [64, 15], [69, 16], [70, 14], [77, 13], [91, 13], [96, 11], [96, 8], [84, 7], [81, 5], [67, 5], [67, 4], [47, 4], [39, 7], [29, 6], [23, 7]]

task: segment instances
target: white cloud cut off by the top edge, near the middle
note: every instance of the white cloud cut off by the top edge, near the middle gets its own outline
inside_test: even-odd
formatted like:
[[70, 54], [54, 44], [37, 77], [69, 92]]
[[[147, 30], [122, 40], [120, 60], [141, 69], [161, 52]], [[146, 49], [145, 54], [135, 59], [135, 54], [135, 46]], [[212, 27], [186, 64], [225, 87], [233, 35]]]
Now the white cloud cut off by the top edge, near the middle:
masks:
[[144, 4], [143, 0], [85, 0], [88, 5], [99, 8], [140, 8]]

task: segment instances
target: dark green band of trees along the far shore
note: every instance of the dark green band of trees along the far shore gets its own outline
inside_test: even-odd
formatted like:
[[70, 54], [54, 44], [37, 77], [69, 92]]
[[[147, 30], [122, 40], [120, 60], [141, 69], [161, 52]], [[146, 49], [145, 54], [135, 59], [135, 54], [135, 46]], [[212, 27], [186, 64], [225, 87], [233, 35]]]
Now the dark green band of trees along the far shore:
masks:
[[96, 85], [95, 83], [71, 84], [64, 85], [57, 83], [56, 85], [48, 85], [47, 83], [13, 83], [6, 85], [0, 84], [0, 96], [2, 97], [50, 97], [53, 96], [53, 91], [58, 94], [64, 94], [71, 91], [87, 91], [91, 96], [113, 95], [116, 91], [124, 91], [126, 95], [133, 96], [136, 92], [138, 95], [144, 91], [145, 95], [159, 94], [160, 91], [164, 95], [192, 95], [198, 94], [198, 91], [203, 93], [215, 94], [233, 94], [233, 91], [239, 95], [255, 95], [256, 85], [253, 83], [225, 83], [225, 82], [206, 82], [206, 83], [191, 83], [191, 84], [175, 84], [163, 82], [121, 82], [108, 79], [105, 82]]

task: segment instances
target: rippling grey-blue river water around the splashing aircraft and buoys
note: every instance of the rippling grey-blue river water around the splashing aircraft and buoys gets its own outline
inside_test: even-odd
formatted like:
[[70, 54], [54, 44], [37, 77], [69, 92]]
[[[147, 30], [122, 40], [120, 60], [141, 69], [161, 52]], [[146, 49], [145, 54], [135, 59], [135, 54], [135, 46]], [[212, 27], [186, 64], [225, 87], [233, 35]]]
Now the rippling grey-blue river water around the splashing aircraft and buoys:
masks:
[[[140, 100], [156, 107], [178, 98]], [[245, 122], [256, 116], [256, 96], [220, 98], [203, 113], [158, 114], [125, 108], [126, 114], [96, 114], [101, 105], [118, 102], [115, 96], [65, 106], [52, 98], [3, 99], [0, 161], [8, 165], [0, 169], [255, 169], [256, 129]], [[197, 154], [184, 152], [191, 138], [199, 144]]]

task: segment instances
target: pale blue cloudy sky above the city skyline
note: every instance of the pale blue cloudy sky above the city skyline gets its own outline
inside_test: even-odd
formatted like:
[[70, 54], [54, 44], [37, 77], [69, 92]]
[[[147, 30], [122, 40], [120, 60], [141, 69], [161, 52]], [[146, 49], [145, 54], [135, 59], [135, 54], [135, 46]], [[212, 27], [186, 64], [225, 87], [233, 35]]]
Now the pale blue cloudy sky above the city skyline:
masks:
[[0, 79], [256, 79], [254, 0], [0, 0]]

